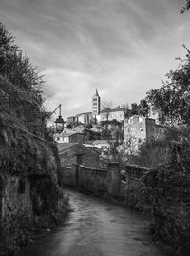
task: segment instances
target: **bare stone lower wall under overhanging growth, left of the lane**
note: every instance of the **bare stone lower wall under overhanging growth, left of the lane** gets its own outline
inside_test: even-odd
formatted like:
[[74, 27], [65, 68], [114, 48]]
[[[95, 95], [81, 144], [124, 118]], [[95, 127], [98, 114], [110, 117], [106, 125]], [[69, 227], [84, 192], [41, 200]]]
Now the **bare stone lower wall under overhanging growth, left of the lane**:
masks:
[[9, 176], [4, 178], [1, 188], [0, 216], [41, 215], [56, 210], [57, 187], [48, 175], [31, 175], [28, 178]]

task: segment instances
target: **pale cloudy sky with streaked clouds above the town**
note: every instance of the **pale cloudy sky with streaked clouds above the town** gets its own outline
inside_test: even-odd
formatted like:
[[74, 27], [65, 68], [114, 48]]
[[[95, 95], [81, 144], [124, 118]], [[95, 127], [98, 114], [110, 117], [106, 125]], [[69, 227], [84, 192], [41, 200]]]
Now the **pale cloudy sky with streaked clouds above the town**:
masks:
[[47, 110], [139, 102], [190, 48], [184, 0], [0, 0], [0, 22], [46, 81]]

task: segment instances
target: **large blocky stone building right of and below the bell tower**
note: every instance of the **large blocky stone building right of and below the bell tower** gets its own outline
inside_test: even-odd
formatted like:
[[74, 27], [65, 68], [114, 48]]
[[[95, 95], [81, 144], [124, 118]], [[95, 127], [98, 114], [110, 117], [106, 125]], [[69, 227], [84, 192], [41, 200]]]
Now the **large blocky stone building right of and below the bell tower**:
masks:
[[162, 140], [165, 137], [165, 128], [155, 123], [155, 119], [133, 115], [123, 122], [124, 140], [133, 139], [136, 144], [143, 141]]

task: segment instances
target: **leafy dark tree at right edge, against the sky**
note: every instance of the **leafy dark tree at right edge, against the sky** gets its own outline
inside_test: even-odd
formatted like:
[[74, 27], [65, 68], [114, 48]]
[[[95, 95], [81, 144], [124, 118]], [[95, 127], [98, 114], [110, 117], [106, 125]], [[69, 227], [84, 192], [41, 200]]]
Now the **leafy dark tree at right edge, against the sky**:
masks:
[[161, 123], [190, 126], [190, 49], [183, 46], [186, 59], [180, 60], [175, 71], [170, 71], [160, 89], [152, 89], [146, 100], [154, 110], [161, 113]]

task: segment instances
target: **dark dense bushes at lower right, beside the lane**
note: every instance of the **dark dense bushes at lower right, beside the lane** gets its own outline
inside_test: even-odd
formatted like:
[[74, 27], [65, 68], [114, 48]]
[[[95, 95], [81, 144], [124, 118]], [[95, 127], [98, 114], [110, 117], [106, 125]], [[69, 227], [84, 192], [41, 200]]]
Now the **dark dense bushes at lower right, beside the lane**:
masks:
[[166, 255], [190, 255], [190, 144], [173, 144], [172, 159], [147, 173], [146, 186], [152, 199], [151, 230]]

